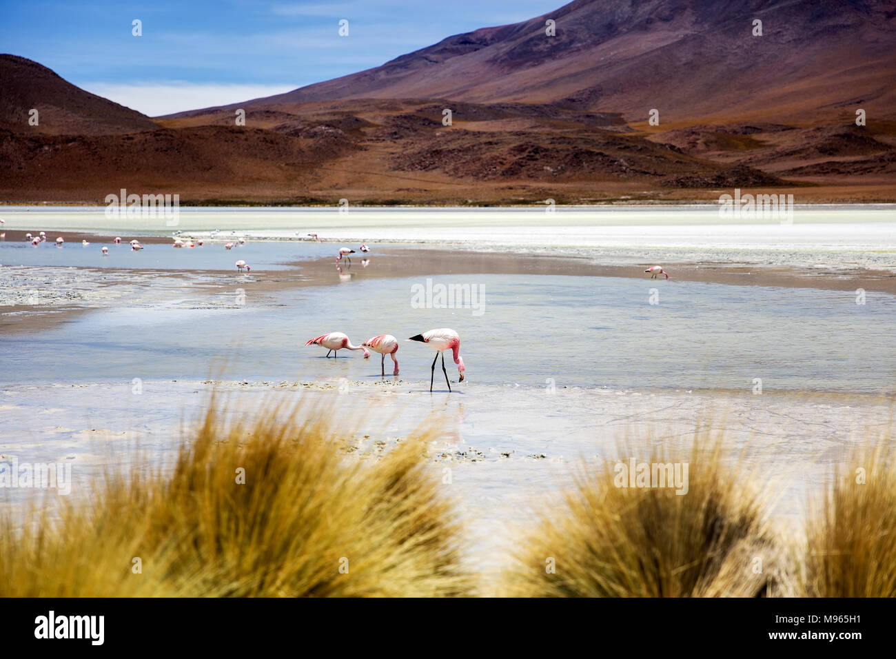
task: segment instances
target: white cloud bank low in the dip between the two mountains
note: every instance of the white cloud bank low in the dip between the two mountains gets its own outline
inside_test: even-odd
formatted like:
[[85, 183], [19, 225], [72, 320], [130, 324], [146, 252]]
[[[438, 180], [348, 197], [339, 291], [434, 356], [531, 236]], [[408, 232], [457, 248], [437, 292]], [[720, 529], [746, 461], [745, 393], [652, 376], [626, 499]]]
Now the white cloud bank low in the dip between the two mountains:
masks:
[[79, 87], [150, 117], [185, 110], [228, 105], [296, 89], [292, 84], [227, 84], [214, 82], [84, 82]]

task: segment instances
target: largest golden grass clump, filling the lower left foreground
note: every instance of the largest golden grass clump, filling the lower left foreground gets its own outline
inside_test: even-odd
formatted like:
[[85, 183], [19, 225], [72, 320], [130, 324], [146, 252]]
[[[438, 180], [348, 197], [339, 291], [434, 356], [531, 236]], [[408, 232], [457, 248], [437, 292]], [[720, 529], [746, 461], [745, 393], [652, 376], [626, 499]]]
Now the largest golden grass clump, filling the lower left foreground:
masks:
[[144, 461], [56, 518], [0, 520], [0, 596], [470, 591], [452, 504], [427, 473], [428, 431], [359, 461], [326, 412], [269, 412], [226, 424], [212, 402], [173, 473]]

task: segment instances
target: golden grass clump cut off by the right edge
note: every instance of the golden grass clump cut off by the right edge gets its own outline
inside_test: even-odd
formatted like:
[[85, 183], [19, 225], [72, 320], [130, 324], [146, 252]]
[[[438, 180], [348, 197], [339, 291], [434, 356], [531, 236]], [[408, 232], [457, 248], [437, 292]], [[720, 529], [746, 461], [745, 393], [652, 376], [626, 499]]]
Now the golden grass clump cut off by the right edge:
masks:
[[896, 448], [849, 456], [806, 524], [804, 591], [814, 597], [896, 597]]

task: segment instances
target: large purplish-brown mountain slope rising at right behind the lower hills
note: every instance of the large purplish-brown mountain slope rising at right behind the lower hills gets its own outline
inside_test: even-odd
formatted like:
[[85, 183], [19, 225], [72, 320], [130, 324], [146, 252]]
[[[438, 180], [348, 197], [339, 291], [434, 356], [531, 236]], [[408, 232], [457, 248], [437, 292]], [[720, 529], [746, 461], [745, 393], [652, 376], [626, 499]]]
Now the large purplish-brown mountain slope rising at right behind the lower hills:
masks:
[[[556, 21], [556, 36], [545, 33]], [[752, 35], [762, 21], [762, 37]], [[576, 0], [232, 107], [346, 99], [564, 103], [661, 121], [896, 116], [892, 0]], [[230, 108], [230, 106], [228, 106]], [[185, 117], [182, 113], [174, 117]]]

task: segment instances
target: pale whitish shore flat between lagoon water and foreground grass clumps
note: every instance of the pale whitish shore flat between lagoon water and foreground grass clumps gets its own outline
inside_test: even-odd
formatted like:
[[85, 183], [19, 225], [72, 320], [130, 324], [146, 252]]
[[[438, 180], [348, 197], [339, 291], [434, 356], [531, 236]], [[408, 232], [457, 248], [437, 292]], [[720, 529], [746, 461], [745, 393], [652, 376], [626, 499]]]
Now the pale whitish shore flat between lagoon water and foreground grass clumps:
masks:
[[[505, 397], [499, 389], [481, 387], [478, 398], [504, 403], [474, 412], [462, 397], [438, 395], [434, 417], [430, 395], [412, 381], [352, 380], [349, 396], [339, 386], [146, 381], [142, 395], [134, 395], [129, 382], [7, 386], [0, 392], [0, 455], [73, 464], [73, 496], [79, 497], [109, 464], [126, 469], [138, 447], [153, 464], [170, 460], [182, 429], [196, 421], [212, 391], [234, 419], [258, 412], [263, 403], [280, 403], [284, 410], [302, 400], [336, 406], [347, 427], [364, 421], [356, 426], [363, 428], [358, 435], [346, 438], [348, 453], [360, 459], [375, 459], [419, 423], [435, 422], [441, 438], [429, 447], [428, 462], [434, 477], [452, 468], [448, 493], [470, 525], [471, 559], [489, 572], [500, 568], [513, 525], [527, 523], [530, 510], [556, 496], [583, 460], [616, 459], [625, 442], [640, 456], [650, 442], [685, 446], [701, 425], [724, 433], [729, 458], [744, 460], [747, 471], [771, 483], [774, 514], [787, 525], [805, 515], [807, 498], [829, 481], [832, 465], [851, 446], [892, 423], [892, 403], [877, 395], [574, 387], [550, 398], [549, 414], [527, 416], [544, 401], [542, 391], [516, 389]], [[35, 492], [10, 494], [6, 505], [15, 509]]]

